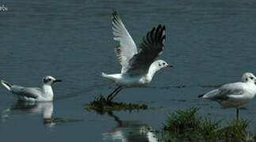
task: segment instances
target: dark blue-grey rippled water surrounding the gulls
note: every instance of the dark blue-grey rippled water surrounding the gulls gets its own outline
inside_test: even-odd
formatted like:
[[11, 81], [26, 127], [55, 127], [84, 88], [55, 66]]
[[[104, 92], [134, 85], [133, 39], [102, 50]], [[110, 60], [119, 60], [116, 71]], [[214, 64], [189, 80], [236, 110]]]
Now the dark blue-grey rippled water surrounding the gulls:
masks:
[[[0, 141], [154, 140], [151, 133], [138, 130], [145, 125], [159, 129], [166, 114], [189, 106], [201, 107], [208, 118], [224, 119], [225, 125], [235, 118], [235, 109], [202, 101], [197, 95], [213, 89], [208, 85], [256, 73], [254, 0], [8, 0], [2, 4], [9, 11], [0, 12], [0, 78], [28, 87], [40, 86], [46, 75], [63, 82], [53, 86], [53, 103], [29, 108], [17, 107], [17, 99], [1, 86]], [[113, 115], [85, 110], [85, 103], [115, 88], [101, 72], [120, 72], [113, 50], [118, 44], [111, 30], [113, 9], [137, 44], [153, 26], [166, 25], [166, 46], [159, 58], [174, 68], [156, 73], [148, 88], [124, 89], [115, 99], [155, 109]], [[175, 88], [182, 85], [185, 88]], [[256, 133], [254, 104], [255, 99], [240, 113], [251, 120], [249, 130]], [[45, 110], [62, 121], [44, 123]]]

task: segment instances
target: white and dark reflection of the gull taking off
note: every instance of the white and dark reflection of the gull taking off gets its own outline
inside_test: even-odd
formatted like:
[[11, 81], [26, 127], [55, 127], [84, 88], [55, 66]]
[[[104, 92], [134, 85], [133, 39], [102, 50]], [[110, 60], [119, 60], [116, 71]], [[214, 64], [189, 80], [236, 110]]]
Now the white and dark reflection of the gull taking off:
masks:
[[158, 141], [154, 133], [146, 124], [139, 121], [121, 121], [113, 112], [108, 113], [117, 121], [117, 126], [109, 130], [108, 133], [103, 133], [104, 140], [122, 140], [123, 142], [155, 142]]

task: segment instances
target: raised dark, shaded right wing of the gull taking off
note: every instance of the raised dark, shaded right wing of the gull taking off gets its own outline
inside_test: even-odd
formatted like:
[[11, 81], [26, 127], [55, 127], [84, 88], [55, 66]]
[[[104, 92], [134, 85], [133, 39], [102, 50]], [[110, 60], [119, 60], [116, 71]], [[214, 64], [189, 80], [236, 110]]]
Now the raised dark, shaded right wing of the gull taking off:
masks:
[[166, 27], [159, 24], [157, 28], [152, 28], [151, 32], [147, 32], [147, 36], [143, 37], [143, 42], [139, 45], [139, 53], [135, 54], [129, 61], [129, 67], [126, 72], [129, 76], [143, 75], [155, 58], [162, 54]]

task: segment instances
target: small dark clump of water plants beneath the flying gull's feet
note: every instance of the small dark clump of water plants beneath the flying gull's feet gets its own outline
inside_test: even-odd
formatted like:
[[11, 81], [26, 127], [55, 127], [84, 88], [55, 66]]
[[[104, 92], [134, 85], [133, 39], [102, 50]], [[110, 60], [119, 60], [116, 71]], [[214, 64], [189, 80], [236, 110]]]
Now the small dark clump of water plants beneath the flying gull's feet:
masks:
[[113, 110], [147, 110], [146, 104], [108, 102], [104, 96], [95, 97], [94, 101], [86, 104], [86, 110], [96, 110], [105, 113]]

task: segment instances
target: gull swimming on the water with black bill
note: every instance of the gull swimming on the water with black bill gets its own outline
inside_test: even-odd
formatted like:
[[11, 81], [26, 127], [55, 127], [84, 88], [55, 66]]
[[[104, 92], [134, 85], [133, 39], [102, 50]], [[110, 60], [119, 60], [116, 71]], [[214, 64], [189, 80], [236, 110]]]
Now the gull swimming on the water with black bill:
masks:
[[16, 95], [17, 98], [21, 101], [52, 101], [53, 100], [53, 91], [52, 84], [55, 82], [60, 82], [61, 80], [56, 80], [54, 77], [47, 76], [43, 78], [42, 88], [24, 88], [21, 86], [13, 85], [5, 80], [0, 80], [13, 95]]

